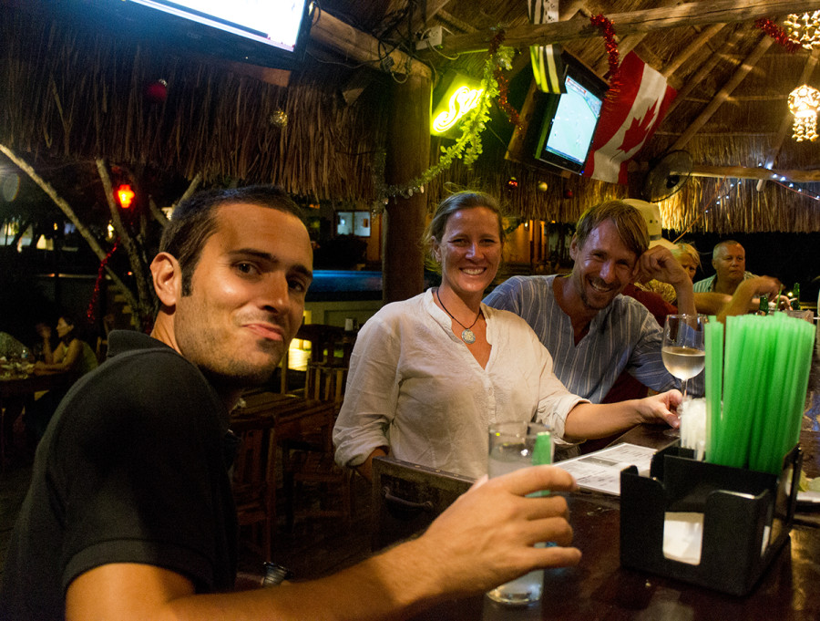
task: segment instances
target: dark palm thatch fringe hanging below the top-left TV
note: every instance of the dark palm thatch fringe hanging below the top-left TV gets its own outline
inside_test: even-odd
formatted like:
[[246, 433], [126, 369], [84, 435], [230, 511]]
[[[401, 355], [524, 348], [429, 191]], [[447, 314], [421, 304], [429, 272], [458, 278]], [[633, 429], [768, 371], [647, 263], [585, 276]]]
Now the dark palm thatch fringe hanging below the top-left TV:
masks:
[[[213, 59], [22, 12], [0, 12], [0, 37], [0, 140], [29, 160], [104, 157], [310, 197], [373, 196], [370, 161], [384, 144], [378, 89], [344, 105], [331, 65], [313, 62], [281, 88]], [[158, 102], [145, 89], [160, 78], [168, 97]]]

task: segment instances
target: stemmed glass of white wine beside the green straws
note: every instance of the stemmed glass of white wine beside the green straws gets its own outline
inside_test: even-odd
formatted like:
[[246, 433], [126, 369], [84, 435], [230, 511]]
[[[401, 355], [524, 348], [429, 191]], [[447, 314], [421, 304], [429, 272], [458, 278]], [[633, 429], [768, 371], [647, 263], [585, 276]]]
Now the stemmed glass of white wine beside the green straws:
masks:
[[666, 369], [682, 382], [686, 398], [686, 380], [703, 370], [706, 362], [704, 346], [705, 315], [668, 315], [663, 326], [661, 358]]

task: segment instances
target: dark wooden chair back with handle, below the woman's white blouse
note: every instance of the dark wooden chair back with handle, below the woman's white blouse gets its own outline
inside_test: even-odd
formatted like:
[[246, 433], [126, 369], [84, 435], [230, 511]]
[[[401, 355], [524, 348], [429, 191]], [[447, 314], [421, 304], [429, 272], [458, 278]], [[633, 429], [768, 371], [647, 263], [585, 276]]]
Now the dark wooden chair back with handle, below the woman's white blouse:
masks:
[[374, 458], [373, 551], [423, 531], [472, 484], [453, 472]]

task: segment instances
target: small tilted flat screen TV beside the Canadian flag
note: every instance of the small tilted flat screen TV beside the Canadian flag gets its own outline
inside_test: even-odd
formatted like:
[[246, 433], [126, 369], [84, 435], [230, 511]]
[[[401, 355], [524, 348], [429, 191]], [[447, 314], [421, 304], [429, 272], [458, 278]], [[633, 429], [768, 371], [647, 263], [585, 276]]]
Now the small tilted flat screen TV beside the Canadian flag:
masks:
[[566, 93], [543, 96], [535, 158], [567, 171], [580, 173], [598, 128], [600, 109], [607, 83], [566, 52], [564, 87]]

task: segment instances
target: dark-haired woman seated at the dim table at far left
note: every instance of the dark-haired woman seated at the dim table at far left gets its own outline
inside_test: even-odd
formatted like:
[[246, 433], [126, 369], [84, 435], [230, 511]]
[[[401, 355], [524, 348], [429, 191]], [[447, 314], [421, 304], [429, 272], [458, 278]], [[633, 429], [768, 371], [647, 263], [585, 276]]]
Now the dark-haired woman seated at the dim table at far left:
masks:
[[56, 323], [56, 334], [59, 337], [56, 347], [51, 347], [51, 326], [39, 324], [37, 335], [43, 339], [43, 360], [36, 362], [35, 375], [67, 374], [67, 383], [61, 388], [52, 388], [38, 398], [34, 405], [26, 409], [23, 422], [32, 440], [38, 441], [46, 432], [48, 421], [54, 416], [56, 407], [66, 396], [71, 383], [88, 371], [97, 367], [97, 356], [94, 350], [81, 340], [76, 333], [74, 321], [67, 316], [60, 316]]

